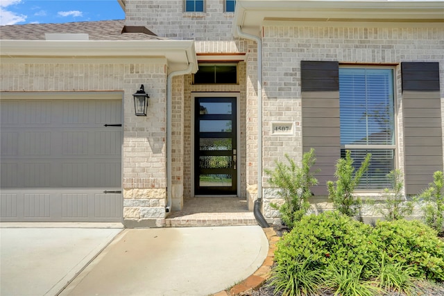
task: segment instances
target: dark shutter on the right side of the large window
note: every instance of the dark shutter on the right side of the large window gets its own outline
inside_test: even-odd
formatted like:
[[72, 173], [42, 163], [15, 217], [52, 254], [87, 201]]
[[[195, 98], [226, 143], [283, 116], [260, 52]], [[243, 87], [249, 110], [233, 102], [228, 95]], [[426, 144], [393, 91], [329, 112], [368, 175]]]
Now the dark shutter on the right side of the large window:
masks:
[[438, 62], [402, 62], [405, 189], [420, 193], [443, 170]]

